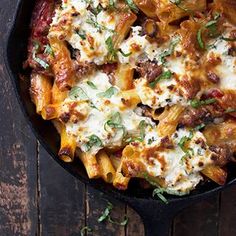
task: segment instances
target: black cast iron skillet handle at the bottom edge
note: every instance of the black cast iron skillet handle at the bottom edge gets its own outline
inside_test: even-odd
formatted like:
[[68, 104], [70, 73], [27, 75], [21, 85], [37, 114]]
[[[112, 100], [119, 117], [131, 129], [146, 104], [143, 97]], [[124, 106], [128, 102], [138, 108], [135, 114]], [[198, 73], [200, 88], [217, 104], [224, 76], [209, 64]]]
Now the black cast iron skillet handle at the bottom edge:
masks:
[[165, 204], [158, 200], [140, 200], [132, 200], [129, 205], [142, 218], [145, 236], [169, 236], [174, 217], [192, 203], [192, 201], [177, 201]]

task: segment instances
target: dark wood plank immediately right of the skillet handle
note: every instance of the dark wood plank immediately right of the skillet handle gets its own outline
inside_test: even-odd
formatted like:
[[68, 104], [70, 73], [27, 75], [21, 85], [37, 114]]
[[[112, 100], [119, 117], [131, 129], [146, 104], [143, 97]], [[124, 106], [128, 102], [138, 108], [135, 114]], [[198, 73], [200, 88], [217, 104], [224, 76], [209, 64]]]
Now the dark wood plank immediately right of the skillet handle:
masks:
[[173, 235], [217, 236], [218, 220], [219, 194], [182, 211], [174, 221]]

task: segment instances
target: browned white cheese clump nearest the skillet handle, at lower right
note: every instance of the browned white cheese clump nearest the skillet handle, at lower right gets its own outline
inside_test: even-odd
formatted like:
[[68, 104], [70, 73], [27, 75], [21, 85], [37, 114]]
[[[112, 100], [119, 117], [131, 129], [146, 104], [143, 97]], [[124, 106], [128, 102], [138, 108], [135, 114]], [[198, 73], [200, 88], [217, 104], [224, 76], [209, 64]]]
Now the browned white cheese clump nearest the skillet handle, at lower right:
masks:
[[[192, 137], [188, 143], [190, 156], [187, 156], [186, 152], [179, 146], [179, 143], [182, 138], [190, 137], [191, 134]], [[148, 140], [152, 140], [152, 142], [149, 144]], [[141, 154], [141, 158], [143, 158], [141, 161], [146, 166], [150, 176], [165, 180], [167, 191], [177, 191], [186, 194], [194, 189], [199, 181], [202, 180], [199, 172], [206, 165], [212, 163], [212, 152], [205, 144], [205, 137], [199, 131], [192, 133], [187, 129], [180, 129], [172, 135], [171, 140], [174, 145], [173, 149], [158, 151], [158, 156], [149, 156], [148, 162], [146, 161], [145, 154], [144, 156]], [[204, 147], [202, 143], [204, 143]], [[146, 134], [144, 150], [158, 147], [160, 144], [161, 137], [158, 137], [157, 132], [151, 129]]]

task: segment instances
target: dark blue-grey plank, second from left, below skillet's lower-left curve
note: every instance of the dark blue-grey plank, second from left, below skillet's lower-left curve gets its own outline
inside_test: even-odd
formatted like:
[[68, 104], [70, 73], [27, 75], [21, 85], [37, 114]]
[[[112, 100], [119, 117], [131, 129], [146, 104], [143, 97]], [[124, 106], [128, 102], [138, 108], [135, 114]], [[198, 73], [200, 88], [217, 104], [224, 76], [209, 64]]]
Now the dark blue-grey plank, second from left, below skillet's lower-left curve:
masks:
[[75, 236], [85, 225], [85, 186], [40, 146], [40, 235]]

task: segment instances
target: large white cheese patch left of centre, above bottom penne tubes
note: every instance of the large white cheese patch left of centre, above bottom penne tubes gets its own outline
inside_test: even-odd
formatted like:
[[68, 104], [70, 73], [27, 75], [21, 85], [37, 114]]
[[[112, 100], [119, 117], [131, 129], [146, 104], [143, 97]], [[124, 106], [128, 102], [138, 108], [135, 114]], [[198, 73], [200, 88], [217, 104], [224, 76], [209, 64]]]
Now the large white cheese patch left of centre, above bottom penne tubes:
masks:
[[[88, 81], [92, 82], [96, 86], [96, 89], [91, 88], [87, 83]], [[96, 72], [96, 74], [84, 78], [83, 81], [79, 82], [76, 86], [82, 88], [84, 93], [88, 96], [89, 102], [87, 102], [87, 118], [77, 123], [67, 123], [66, 129], [69, 134], [72, 134], [77, 138], [77, 144], [83, 151], [86, 150], [86, 143], [89, 141], [91, 135], [96, 135], [103, 144], [103, 146], [100, 147], [92, 147], [90, 151], [93, 154], [96, 154], [103, 147], [115, 148], [122, 146], [124, 138], [123, 129], [105, 127], [106, 122], [116, 112], [119, 112], [120, 114], [122, 125], [127, 135], [133, 136], [135, 134], [137, 136], [137, 132], [139, 132], [139, 124], [143, 120], [146, 123], [153, 125], [151, 119], [137, 115], [133, 109], [123, 108], [121, 102], [122, 94], [118, 87], [115, 87], [117, 92], [111, 98], [99, 95], [112, 87], [109, 78], [105, 73]], [[76, 100], [81, 99], [77, 98]], [[67, 98], [65, 103], [73, 101], [74, 100]], [[92, 107], [91, 104], [93, 104]], [[80, 103], [76, 109], [81, 109]]]

